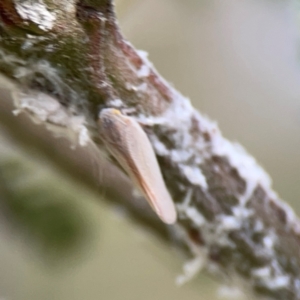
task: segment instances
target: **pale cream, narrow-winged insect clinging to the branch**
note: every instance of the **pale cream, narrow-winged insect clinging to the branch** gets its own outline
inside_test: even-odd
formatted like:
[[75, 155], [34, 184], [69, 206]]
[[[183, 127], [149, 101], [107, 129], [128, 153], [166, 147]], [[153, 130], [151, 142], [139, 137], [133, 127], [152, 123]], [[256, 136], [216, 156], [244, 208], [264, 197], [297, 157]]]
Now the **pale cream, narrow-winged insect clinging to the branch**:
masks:
[[99, 125], [110, 153], [161, 220], [173, 224], [176, 221], [175, 205], [165, 186], [152, 145], [141, 126], [113, 108], [101, 110]]

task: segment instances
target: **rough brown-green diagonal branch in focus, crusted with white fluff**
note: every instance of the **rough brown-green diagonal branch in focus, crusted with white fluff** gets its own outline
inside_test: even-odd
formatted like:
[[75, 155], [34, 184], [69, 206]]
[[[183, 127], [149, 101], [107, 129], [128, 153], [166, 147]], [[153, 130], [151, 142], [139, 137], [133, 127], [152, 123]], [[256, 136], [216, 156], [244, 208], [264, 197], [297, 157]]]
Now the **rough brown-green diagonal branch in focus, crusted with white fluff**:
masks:
[[[255, 160], [124, 40], [111, 1], [1, 1], [0, 71], [19, 84], [18, 111], [68, 128], [81, 145], [105, 151], [102, 108], [136, 118], [177, 204], [177, 246], [195, 257], [195, 268], [203, 262], [242, 278], [257, 298], [300, 299], [299, 220]], [[167, 240], [146, 205], [123, 200], [115, 201]]]

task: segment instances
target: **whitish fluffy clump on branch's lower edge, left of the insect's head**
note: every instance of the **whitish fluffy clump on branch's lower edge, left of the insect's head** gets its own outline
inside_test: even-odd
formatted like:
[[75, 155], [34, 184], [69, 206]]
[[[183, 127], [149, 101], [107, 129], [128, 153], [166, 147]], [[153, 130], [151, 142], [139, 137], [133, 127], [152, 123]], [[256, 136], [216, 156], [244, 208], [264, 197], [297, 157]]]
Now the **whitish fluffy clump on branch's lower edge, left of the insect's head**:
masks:
[[45, 123], [56, 134], [75, 139], [76, 144], [85, 146], [90, 141], [86, 121], [83, 116], [74, 116], [56, 99], [43, 93], [14, 94], [15, 115], [28, 112], [36, 123]]

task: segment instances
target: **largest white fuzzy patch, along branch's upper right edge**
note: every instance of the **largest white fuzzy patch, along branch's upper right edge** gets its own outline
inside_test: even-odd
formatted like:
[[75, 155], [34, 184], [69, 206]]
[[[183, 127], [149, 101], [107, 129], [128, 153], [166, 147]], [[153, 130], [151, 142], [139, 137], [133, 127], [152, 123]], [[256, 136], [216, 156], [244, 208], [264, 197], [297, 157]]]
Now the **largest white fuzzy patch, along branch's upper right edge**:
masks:
[[[175, 93], [175, 92], [174, 92]], [[271, 180], [268, 174], [256, 163], [255, 159], [250, 156], [242, 146], [237, 143], [231, 143], [224, 139], [215, 122], [210, 121], [208, 118], [197, 114], [190, 104], [190, 101], [181, 95], [175, 94], [174, 101], [169, 109], [163, 114], [161, 120], [156, 118], [156, 122], [151, 120], [152, 123], [160, 123], [164, 126], [174, 128], [181, 124], [183, 128], [191, 127], [192, 117], [196, 118], [198, 125], [202, 132], [206, 132], [211, 137], [211, 145], [208, 148], [201, 137], [195, 141], [193, 137], [182, 131], [176, 131], [174, 138], [178, 140], [182, 149], [193, 149], [196, 147], [200, 155], [197, 155], [197, 164], [201, 163], [211, 155], [224, 156], [229, 160], [229, 163], [234, 167], [242, 179], [246, 182], [246, 191], [240, 195], [240, 202], [244, 205], [251, 197], [257, 185], [261, 185], [267, 191], [270, 191]]]

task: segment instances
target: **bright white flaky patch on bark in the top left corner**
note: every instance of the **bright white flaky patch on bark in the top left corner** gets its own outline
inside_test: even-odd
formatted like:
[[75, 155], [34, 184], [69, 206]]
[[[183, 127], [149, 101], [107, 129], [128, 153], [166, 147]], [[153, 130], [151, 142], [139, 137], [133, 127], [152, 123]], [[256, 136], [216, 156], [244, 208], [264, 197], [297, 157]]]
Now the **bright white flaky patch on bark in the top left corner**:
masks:
[[55, 13], [47, 10], [42, 0], [39, 3], [32, 1], [22, 1], [16, 4], [16, 10], [23, 20], [35, 23], [40, 29], [51, 30], [56, 20]]

